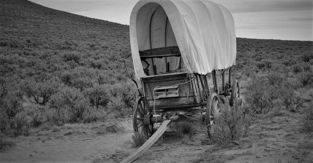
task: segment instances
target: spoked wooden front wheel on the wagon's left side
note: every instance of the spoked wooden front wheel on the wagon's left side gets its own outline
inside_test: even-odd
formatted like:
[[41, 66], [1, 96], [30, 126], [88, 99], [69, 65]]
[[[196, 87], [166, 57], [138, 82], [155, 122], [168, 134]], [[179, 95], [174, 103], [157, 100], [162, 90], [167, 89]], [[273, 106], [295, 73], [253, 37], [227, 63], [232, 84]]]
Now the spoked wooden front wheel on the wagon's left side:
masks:
[[150, 122], [151, 111], [146, 110], [145, 102], [141, 97], [138, 97], [135, 101], [133, 108], [133, 127], [134, 131], [143, 132], [146, 136], [152, 136], [153, 123]]

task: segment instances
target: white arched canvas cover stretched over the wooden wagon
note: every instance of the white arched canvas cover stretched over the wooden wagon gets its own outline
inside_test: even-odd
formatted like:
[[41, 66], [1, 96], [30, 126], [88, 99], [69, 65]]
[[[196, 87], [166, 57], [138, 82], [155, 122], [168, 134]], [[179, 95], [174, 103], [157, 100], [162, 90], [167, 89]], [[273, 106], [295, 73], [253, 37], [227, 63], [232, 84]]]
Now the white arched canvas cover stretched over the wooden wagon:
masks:
[[[155, 12], [158, 17], [152, 20]], [[150, 28], [151, 21], [163, 23]], [[235, 65], [233, 17], [222, 5], [207, 0], [140, 0], [131, 12], [130, 40], [137, 79], [146, 76], [139, 50], [151, 49], [151, 45], [177, 45], [187, 73], [207, 74]]]

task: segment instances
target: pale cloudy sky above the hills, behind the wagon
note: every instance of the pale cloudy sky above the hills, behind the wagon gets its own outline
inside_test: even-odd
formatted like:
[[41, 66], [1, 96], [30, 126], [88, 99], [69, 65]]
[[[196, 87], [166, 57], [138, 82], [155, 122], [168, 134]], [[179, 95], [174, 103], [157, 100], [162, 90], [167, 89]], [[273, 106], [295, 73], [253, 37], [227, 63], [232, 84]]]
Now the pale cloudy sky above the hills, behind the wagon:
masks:
[[[129, 25], [139, 0], [30, 0], [45, 7]], [[313, 41], [313, 1], [211, 0], [226, 7], [236, 37]]]

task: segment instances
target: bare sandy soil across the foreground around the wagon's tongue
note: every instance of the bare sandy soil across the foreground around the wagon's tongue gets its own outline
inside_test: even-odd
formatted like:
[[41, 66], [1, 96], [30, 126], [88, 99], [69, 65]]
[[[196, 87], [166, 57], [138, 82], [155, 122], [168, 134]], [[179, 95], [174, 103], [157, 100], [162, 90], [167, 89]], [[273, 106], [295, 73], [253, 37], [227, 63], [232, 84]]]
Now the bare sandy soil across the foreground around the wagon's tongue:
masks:
[[[238, 141], [240, 145], [230, 144], [227, 149], [214, 146], [205, 132], [192, 135], [186, 144], [182, 138], [172, 136], [161, 145], [153, 145], [134, 162], [312, 161], [313, 133], [302, 132], [299, 119], [299, 113], [255, 118], [249, 135]], [[114, 124], [117, 132], [101, 132]], [[64, 135], [69, 130], [72, 134]], [[42, 136], [19, 137], [16, 146], [0, 153], [0, 162], [120, 162], [137, 149], [132, 135], [131, 117], [76, 124], [72, 129], [46, 131]]]

